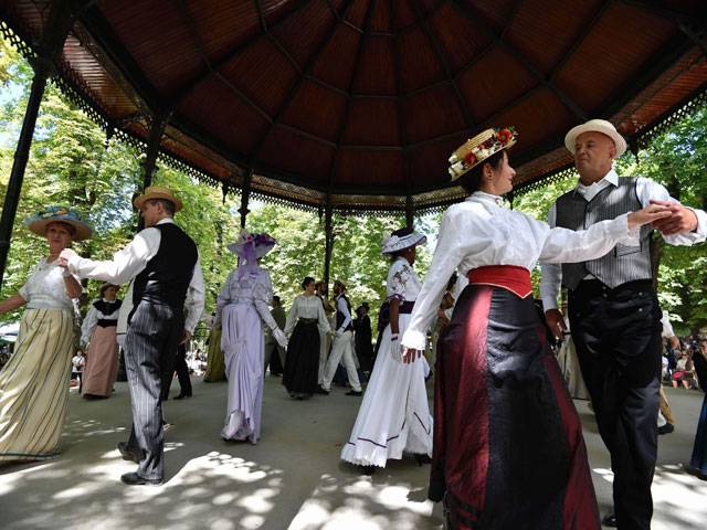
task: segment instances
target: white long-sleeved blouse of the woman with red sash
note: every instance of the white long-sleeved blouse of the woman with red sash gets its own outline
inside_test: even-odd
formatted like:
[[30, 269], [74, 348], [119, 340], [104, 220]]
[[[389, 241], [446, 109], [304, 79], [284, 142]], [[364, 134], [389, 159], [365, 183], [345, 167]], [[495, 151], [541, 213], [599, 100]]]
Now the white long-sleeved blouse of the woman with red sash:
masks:
[[446, 284], [458, 269], [515, 265], [531, 271], [538, 261], [583, 262], [603, 256], [631, 236], [629, 214], [574, 232], [550, 226], [525, 213], [504, 208], [497, 195], [477, 191], [444, 213], [437, 246], [418, 296], [402, 344], [424, 350], [425, 332], [436, 315]]

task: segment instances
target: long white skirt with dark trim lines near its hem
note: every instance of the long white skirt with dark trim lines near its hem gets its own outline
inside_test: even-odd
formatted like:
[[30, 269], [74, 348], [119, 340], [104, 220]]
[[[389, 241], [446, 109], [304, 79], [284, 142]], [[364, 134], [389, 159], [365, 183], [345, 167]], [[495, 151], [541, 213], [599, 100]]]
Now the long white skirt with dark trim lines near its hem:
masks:
[[[399, 317], [402, 338], [410, 315]], [[390, 352], [390, 325], [386, 327], [371, 379], [341, 459], [360, 466], [386, 467], [403, 452], [432, 456], [432, 415], [424, 377], [424, 357], [403, 364]]]

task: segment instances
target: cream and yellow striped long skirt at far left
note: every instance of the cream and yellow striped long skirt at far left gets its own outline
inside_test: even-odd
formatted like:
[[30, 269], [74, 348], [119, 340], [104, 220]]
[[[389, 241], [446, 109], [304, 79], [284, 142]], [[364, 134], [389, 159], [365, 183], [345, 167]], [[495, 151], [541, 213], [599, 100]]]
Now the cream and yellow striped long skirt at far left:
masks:
[[0, 372], [0, 462], [59, 454], [73, 342], [70, 312], [24, 311], [14, 354]]

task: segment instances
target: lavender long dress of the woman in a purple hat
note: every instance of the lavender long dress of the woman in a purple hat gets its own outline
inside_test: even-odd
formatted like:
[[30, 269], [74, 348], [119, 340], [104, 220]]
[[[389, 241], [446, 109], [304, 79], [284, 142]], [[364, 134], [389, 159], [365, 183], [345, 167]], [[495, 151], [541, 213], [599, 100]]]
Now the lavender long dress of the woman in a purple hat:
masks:
[[275, 329], [277, 324], [268, 310], [273, 298], [270, 274], [264, 268], [233, 271], [217, 299], [217, 321], [222, 321], [221, 349], [229, 378], [229, 402], [224, 439], [261, 437], [263, 404], [263, 362], [265, 340], [263, 321]]

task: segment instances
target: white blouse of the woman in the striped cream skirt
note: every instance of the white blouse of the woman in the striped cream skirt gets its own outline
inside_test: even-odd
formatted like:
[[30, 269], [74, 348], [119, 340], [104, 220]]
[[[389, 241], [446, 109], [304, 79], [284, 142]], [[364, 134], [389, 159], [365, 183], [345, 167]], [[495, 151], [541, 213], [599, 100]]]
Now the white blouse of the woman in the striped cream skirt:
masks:
[[[41, 259], [20, 288], [19, 294], [27, 300], [28, 309], [64, 309], [73, 315], [74, 305], [66, 294], [62, 276], [64, 269], [56, 263], [56, 259], [52, 263]], [[74, 277], [81, 283], [78, 277]]]

